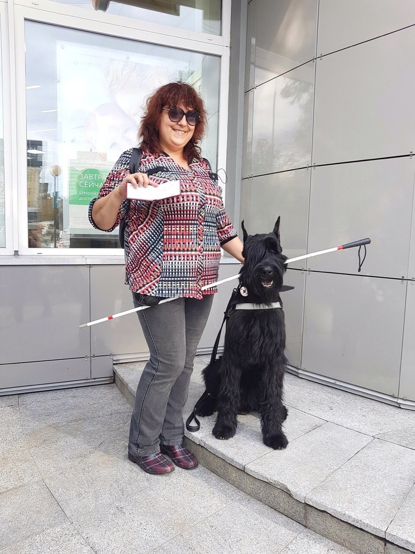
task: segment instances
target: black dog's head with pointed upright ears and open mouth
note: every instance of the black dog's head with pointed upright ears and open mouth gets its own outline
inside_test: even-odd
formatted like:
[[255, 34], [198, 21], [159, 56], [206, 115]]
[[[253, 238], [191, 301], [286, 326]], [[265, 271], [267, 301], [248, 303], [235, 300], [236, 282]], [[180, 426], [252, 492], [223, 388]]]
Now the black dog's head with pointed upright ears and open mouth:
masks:
[[272, 233], [248, 235], [242, 222], [245, 259], [240, 270], [240, 283], [248, 291], [249, 300], [269, 304], [279, 298], [286, 271], [283, 249], [280, 242], [280, 218]]

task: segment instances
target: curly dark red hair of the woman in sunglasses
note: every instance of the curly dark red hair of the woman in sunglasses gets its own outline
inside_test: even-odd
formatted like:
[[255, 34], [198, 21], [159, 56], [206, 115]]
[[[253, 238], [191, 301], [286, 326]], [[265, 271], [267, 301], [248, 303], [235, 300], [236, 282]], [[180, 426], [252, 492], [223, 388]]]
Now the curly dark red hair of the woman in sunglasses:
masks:
[[207, 127], [206, 109], [196, 90], [191, 85], [181, 81], [161, 86], [148, 98], [147, 108], [142, 117], [138, 135], [139, 141], [141, 139], [142, 150], [148, 150], [152, 154], [161, 154], [158, 137], [161, 111], [165, 106], [178, 106], [181, 103], [189, 110], [196, 110], [199, 114], [199, 121], [196, 124], [193, 136], [183, 149], [183, 153], [188, 163], [191, 163], [195, 158], [201, 160], [199, 142], [202, 140]]

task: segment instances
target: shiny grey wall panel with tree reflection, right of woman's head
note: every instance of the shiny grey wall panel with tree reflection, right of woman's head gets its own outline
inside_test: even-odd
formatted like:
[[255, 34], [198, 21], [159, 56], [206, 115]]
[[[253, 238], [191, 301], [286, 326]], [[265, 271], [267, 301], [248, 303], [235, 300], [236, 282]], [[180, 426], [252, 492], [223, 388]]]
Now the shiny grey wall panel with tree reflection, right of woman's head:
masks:
[[253, 175], [310, 165], [313, 83], [310, 62], [255, 89]]

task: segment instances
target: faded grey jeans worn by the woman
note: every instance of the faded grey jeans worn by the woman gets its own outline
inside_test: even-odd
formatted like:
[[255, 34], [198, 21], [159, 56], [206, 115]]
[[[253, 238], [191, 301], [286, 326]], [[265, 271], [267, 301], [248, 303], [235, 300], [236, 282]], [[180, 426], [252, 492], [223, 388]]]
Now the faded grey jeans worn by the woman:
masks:
[[[138, 296], [138, 295], [137, 295]], [[133, 294], [134, 305], [140, 300]], [[129, 451], [147, 456], [162, 444], [182, 444], [187, 402], [196, 348], [213, 302], [178, 298], [137, 313], [150, 350], [135, 396]]]

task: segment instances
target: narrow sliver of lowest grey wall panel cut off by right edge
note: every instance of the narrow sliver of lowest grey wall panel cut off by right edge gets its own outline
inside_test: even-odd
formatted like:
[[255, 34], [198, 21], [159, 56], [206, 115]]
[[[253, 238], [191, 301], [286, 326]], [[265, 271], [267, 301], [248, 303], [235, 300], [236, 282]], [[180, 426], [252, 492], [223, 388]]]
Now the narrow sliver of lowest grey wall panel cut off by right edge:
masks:
[[408, 283], [399, 397], [415, 401], [415, 281]]

